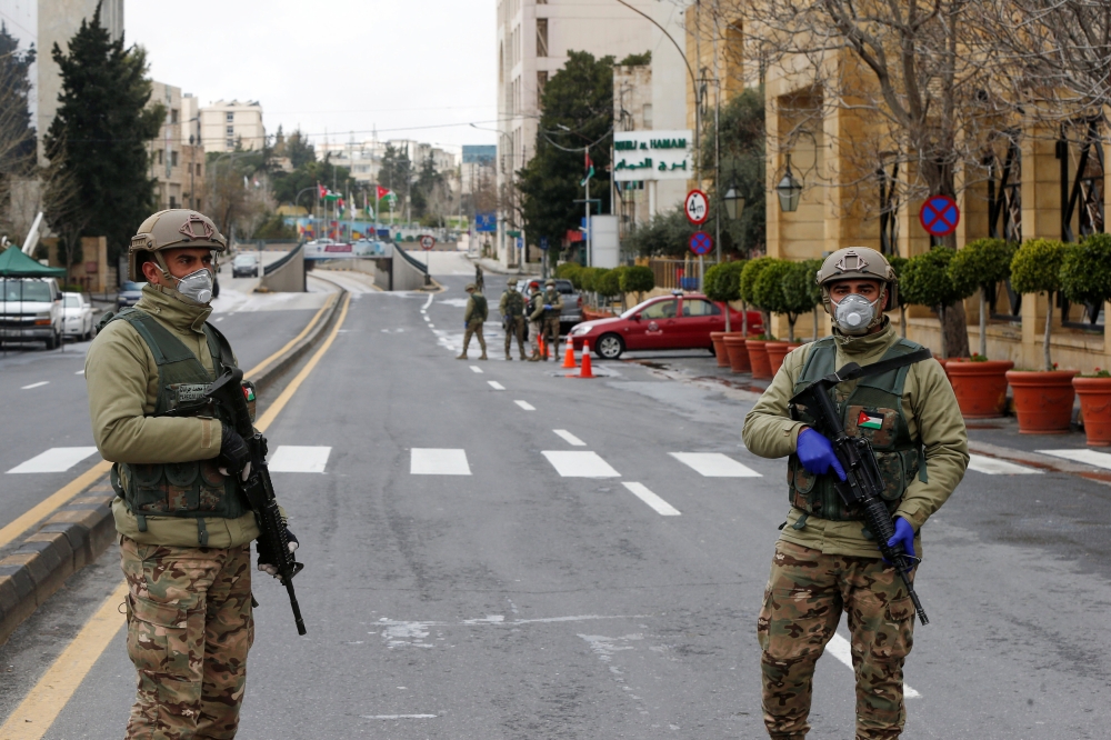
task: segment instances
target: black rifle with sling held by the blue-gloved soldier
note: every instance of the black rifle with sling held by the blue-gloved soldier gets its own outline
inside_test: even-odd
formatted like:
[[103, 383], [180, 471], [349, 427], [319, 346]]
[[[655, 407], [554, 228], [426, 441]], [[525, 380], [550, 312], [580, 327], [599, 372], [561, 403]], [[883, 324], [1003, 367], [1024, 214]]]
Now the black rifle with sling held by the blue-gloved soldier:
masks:
[[[880, 474], [880, 466], [875, 461], [875, 452], [872, 450], [871, 442], [864, 437], [850, 437], [845, 433], [844, 424], [841, 423], [841, 417], [833, 407], [833, 401], [830, 400], [829, 391], [847, 380], [880, 374], [880, 372], [887, 372], [930, 357], [932, 357], [930, 350], [919, 350], [870, 364], [867, 368], [850, 362], [833, 374], [810, 383], [791, 399], [792, 407], [805, 407], [807, 412], [815, 421], [815, 431], [833, 444], [833, 453], [837, 454], [845, 474], [844, 481], [833, 481], [833, 488], [847, 507], [855, 508], [864, 514], [864, 523], [875, 537], [880, 553], [899, 571], [922, 624], [929, 624], [930, 620], [927, 618], [922, 602], [914, 591], [914, 584], [910, 580], [910, 571], [914, 569], [918, 558], [907, 554], [902, 544], [894, 547], [888, 544], [888, 540], [895, 534], [895, 528], [887, 506], [880, 498], [880, 493], [885, 487], [883, 477]], [[837, 478], [835, 472], [830, 471], [830, 474]]]

